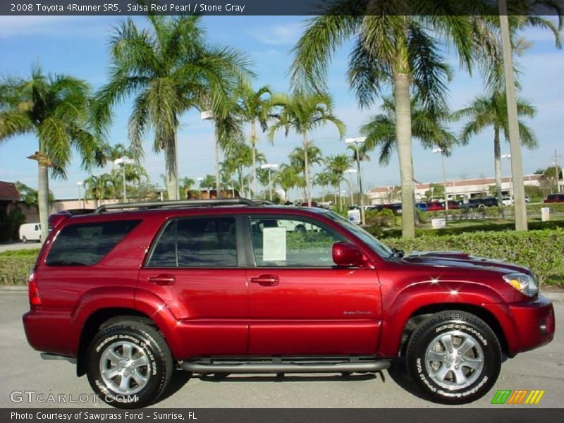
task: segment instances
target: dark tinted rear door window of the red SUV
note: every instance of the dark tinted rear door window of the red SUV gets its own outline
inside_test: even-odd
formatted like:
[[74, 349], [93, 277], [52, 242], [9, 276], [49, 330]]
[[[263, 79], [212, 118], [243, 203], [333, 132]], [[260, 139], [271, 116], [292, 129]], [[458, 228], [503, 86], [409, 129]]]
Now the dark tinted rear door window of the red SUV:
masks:
[[169, 222], [157, 240], [147, 266], [237, 266], [235, 219], [211, 217]]

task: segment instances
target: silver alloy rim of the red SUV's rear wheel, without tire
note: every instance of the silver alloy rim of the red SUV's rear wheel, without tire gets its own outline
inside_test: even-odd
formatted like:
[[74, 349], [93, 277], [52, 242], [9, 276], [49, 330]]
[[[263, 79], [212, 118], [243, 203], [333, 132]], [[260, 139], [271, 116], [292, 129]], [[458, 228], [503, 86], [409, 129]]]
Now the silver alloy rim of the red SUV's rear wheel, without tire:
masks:
[[145, 388], [151, 374], [151, 364], [145, 350], [130, 341], [109, 345], [100, 358], [100, 374], [112, 391], [132, 395]]

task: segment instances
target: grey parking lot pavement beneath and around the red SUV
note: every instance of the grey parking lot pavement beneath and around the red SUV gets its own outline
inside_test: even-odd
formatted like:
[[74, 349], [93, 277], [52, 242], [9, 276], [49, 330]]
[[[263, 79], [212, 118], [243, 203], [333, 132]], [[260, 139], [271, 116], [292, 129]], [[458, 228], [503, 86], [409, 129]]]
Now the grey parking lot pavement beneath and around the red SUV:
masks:
[[[534, 407], [564, 407], [564, 302], [556, 302], [555, 307], [554, 341], [505, 362], [492, 391], [464, 407], [516, 407], [490, 405], [497, 389], [541, 389], [546, 393]], [[27, 345], [21, 321], [27, 308], [25, 292], [0, 292], [0, 407], [107, 407], [92, 400], [87, 379], [77, 378], [72, 364], [43, 361]], [[349, 377], [231, 375], [226, 379], [212, 376], [188, 379], [182, 376], [180, 372], [168, 397], [154, 407], [440, 407], [398, 385], [396, 380], [400, 384], [405, 381], [391, 372]], [[37, 394], [44, 394], [45, 398], [49, 394], [63, 394], [67, 403], [27, 400]], [[22, 400], [14, 403], [11, 397]]]

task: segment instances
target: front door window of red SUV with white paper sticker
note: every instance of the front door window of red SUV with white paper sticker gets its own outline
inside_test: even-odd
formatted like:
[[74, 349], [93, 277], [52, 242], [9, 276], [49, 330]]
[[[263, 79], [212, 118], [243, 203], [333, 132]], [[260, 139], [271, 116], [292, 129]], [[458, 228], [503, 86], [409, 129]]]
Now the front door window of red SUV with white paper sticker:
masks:
[[251, 219], [257, 266], [331, 267], [332, 248], [341, 235], [306, 220]]

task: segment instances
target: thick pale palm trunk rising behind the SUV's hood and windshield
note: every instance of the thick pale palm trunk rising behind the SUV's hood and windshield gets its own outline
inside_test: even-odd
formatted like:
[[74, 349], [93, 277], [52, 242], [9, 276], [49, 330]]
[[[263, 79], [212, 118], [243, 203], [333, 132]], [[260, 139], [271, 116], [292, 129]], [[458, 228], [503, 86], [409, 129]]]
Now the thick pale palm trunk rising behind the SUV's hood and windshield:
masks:
[[393, 78], [393, 99], [396, 102], [396, 136], [400, 161], [402, 235], [415, 237], [413, 166], [411, 152], [410, 76], [396, 73]]

